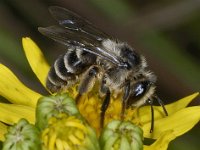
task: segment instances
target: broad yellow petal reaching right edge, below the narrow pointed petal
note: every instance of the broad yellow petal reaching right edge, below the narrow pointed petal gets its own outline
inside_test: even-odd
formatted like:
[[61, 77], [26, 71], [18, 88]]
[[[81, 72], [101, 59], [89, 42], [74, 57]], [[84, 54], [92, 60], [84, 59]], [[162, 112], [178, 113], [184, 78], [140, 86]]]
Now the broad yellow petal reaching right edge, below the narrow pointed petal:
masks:
[[200, 106], [181, 109], [174, 114], [155, 121], [154, 131], [149, 132], [151, 123], [142, 126], [144, 137], [157, 139], [163, 132], [173, 130], [175, 136], [180, 136], [192, 129], [200, 120]]

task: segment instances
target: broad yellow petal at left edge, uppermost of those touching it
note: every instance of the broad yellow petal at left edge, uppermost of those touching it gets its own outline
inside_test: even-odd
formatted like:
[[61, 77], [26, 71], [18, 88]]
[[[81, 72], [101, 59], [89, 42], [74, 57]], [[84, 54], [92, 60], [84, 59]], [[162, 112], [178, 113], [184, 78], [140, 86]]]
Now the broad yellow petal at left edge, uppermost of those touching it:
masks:
[[0, 64], [0, 95], [14, 104], [35, 107], [40, 94], [22, 84], [4, 65]]

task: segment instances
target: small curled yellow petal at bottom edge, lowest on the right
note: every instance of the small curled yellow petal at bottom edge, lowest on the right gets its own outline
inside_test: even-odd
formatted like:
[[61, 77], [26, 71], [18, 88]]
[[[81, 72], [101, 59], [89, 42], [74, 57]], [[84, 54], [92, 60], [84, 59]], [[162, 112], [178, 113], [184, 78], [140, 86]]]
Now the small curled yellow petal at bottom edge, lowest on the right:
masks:
[[144, 145], [144, 150], [167, 150], [170, 141], [175, 138], [173, 130], [166, 131], [152, 145]]

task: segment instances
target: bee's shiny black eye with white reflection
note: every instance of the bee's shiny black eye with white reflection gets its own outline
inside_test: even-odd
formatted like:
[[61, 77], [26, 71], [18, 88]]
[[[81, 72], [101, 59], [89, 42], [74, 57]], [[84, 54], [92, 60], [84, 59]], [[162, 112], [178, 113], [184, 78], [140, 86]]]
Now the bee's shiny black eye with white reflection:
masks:
[[143, 81], [143, 82], [139, 82], [135, 85], [134, 91], [133, 91], [133, 96], [134, 97], [140, 97], [142, 96], [144, 93], [146, 93], [146, 91], [149, 88], [149, 82], [148, 81]]

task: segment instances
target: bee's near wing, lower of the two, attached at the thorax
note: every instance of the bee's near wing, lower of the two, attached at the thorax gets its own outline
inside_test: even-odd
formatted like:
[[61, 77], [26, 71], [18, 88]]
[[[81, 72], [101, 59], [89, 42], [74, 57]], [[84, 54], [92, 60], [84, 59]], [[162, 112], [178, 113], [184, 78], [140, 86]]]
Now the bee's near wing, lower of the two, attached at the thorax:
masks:
[[68, 47], [81, 47], [82, 50], [102, 57], [116, 65], [120, 64], [119, 58], [104, 50], [100, 41], [97, 41], [90, 36], [86, 36], [85, 33], [63, 28], [62, 26], [39, 27], [38, 30], [43, 35], [63, 45]]

